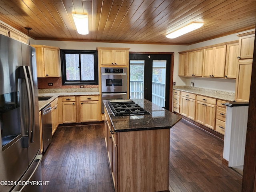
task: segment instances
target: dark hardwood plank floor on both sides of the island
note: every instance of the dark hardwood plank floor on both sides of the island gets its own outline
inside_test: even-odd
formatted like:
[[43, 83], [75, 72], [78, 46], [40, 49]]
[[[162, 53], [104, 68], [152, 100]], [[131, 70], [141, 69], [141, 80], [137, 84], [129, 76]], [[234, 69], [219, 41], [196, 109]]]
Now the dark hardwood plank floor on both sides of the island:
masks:
[[[43, 192], [114, 192], [104, 124], [59, 127], [42, 160]], [[170, 133], [170, 192], [240, 192], [222, 164], [223, 141], [181, 120]]]

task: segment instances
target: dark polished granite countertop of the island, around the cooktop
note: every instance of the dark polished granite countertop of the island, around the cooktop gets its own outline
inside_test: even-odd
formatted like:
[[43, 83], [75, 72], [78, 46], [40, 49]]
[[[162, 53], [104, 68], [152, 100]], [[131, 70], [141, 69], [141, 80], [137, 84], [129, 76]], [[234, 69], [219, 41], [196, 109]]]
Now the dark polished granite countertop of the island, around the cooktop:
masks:
[[103, 100], [110, 116], [115, 132], [170, 129], [181, 117], [146, 100], [132, 99], [136, 104], [150, 112], [146, 115], [114, 116], [108, 106], [108, 100]]

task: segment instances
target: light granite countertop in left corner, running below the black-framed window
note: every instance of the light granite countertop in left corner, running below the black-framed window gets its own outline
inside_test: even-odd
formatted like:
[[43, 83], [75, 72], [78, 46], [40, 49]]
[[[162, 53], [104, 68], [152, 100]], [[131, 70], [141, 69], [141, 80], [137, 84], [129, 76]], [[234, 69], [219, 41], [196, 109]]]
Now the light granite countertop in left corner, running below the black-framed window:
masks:
[[38, 101], [39, 111], [46, 107], [49, 103], [51, 103], [54, 99], [58, 98], [58, 96], [86, 96], [86, 95], [100, 95], [99, 92], [41, 92], [38, 93], [38, 97], [49, 97], [50, 99], [46, 101]]

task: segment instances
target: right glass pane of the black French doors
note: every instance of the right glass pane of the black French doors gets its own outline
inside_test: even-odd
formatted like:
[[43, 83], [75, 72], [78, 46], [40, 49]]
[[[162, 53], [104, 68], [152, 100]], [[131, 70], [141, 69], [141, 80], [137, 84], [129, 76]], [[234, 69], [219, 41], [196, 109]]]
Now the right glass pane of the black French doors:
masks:
[[166, 60], [153, 60], [152, 103], [165, 107], [166, 100]]

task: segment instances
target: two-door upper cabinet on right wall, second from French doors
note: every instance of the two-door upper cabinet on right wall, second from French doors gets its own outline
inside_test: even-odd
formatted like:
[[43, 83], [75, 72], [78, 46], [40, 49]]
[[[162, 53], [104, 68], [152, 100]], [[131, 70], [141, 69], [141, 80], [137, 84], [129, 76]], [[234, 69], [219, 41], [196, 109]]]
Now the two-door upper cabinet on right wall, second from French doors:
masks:
[[204, 50], [196, 50], [186, 54], [186, 75], [202, 77]]

